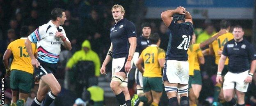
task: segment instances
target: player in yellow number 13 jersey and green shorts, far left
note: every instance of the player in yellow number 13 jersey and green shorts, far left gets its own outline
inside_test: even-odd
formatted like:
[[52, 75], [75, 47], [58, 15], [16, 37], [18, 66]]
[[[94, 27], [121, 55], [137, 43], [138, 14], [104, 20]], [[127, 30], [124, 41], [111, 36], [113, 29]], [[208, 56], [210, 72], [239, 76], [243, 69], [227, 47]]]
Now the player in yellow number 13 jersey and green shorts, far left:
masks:
[[[11, 106], [23, 106], [27, 100], [28, 93], [33, 84], [34, 68], [31, 64], [31, 59], [25, 48], [25, 40], [30, 34], [27, 26], [21, 28], [21, 37], [18, 40], [11, 42], [5, 51], [3, 62], [7, 73], [11, 71], [10, 86], [11, 86]], [[37, 57], [37, 46], [32, 44], [32, 52]], [[9, 68], [9, 57], [13, 55], [14, 59]], [[18, 94], [19, 93], [19, 94]], [[18, 99], [18, 100], [17, 100]]]

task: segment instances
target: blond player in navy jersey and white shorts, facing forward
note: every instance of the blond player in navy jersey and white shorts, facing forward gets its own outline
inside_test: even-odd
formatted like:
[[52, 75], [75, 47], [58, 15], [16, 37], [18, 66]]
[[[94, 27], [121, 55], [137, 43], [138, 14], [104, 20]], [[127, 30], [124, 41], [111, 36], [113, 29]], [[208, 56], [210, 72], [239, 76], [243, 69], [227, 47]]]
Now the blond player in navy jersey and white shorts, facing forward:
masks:
[[113, 58], [110, 88], [116, 95], [120, 106], [130, 106], [127, 75], [132, 66], [137, 33], [133, 22], [123, 18], [125, 10], [121, 5], [114, 5], [111, 11], [115, 24], [110, 30], [111, 46], [102, 64], [101, 74], [106, 74], [106, 65]]

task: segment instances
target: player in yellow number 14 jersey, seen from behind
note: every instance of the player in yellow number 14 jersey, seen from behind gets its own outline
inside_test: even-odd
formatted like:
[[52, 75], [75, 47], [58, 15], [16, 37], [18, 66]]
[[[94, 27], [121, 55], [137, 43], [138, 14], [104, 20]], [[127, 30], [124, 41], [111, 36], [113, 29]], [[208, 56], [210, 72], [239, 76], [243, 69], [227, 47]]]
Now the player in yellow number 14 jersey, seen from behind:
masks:
[[[228, 31], [228, 33], [225, 33], [224, 35], [218, 37], [217, 40], [215, 40], [212, 44], [209, 45], [209, 53], [210, 53], [210, 55], [215, 55], [215, 64], [217, 64], [217, 65], [219, 64], [219, 59], [222, 54], [224, 45], [226, 44], [226, 42], [228, 42], [229, 40], [232, 40], [234, 38], [233, 34], [229, 33], [230, 22], [228, 20], [222, 20], [220, 22], [220, 29], [226, 29]], [[214, 34], [213, 36], [215, 36], [215, 35], [216, 34]], [[229, 63], [229, 59], [227, 59], [225, 61], [225, 66], [224, 66], [224, 69], [221, 74], [223, 77], [228, 72], [228, 68], [227, 68], [228, 63]], [[213, 106], [217, 106], [218, 97], [220, 97], [221, 101], [224, 101], [224, 97], [223, 97], [223, 93], [222, 93], [223, 92], [222, 91], [222, 83], [219, 83], [219, 84], [217, 83], [215, 85]]]

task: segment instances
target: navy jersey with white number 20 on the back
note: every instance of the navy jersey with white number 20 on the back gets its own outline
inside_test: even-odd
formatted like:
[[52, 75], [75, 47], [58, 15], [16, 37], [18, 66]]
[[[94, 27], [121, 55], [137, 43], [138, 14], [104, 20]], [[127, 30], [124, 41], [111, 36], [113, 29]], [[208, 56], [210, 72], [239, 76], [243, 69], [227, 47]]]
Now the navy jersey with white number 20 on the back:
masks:
[[187, 50], [192, 40], [194, 28], [191, 22], [175, 23], [171, 21], [171, 30], [167, 47], [166, 60], [187, 61]]

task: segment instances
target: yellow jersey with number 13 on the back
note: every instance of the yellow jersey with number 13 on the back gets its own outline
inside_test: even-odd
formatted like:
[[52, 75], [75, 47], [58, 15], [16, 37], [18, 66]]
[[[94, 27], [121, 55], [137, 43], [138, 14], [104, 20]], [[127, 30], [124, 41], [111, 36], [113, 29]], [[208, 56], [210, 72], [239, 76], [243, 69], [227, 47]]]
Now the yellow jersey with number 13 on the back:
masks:
[[[14, 59], [11, 63], [11, 70], [21, 70], [27, 73], [33, 74], [34, 67], [31, 64], [31, 58], [27, 53], [27, 49], [25, 47], [25, 40], [27, 38], [21, 38], [11, 42], [7, 49], [11, 50]], [[37, 53], [37, 46], [32, 43], [32, 53]]]

